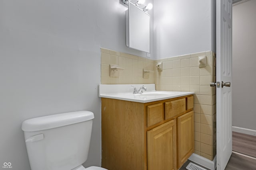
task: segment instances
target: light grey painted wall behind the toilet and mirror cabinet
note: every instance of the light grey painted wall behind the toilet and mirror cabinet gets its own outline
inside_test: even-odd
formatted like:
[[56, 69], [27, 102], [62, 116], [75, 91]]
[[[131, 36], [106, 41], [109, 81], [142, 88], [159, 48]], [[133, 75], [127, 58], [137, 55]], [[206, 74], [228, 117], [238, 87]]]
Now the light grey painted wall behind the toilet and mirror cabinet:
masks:
[[90, 110], [84, 165], [100, 166], [100, 47], [146, 56], [125, 45], [125, 10], [119, 0], [0, 1], [0, 165], [30, 169], [25, 119]]

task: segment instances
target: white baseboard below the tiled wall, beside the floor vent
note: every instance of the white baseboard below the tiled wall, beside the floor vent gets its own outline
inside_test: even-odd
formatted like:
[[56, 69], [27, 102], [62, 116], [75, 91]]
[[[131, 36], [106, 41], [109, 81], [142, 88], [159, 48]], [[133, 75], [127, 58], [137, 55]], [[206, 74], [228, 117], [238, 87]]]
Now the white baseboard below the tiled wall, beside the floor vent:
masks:
[[202, 156], [199, 156], [198, 154], [193, 153], [188, 159], [206, 168], [209, 168], [210, 170], [216, 169], [216, 156], [213, 160], [209, 160]]

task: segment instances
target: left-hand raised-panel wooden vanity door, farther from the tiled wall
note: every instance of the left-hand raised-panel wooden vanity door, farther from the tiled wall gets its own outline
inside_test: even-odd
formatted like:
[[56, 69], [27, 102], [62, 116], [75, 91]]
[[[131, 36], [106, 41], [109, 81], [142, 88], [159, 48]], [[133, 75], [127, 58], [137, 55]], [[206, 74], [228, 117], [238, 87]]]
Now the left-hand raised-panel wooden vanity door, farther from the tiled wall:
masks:
[[176, 170], [176, 120], [148, 131], [148, 170]]

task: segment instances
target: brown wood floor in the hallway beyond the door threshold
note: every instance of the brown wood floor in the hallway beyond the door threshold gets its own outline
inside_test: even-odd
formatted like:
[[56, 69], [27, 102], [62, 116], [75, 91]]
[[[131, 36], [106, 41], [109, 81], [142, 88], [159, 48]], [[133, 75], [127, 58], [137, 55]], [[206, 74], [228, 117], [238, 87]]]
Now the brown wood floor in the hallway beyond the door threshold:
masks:
[[232, 150], [256, 158], [256, 136], [233, 132]]

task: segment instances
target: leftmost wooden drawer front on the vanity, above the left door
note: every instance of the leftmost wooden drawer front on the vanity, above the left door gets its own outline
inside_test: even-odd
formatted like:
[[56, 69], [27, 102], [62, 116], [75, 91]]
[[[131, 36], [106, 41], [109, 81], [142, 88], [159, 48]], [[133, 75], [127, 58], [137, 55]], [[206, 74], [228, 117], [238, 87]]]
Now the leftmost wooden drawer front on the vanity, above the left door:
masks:
[[147, 126], [152, 126], [164, 120], [163, 104], [147, 106]]

